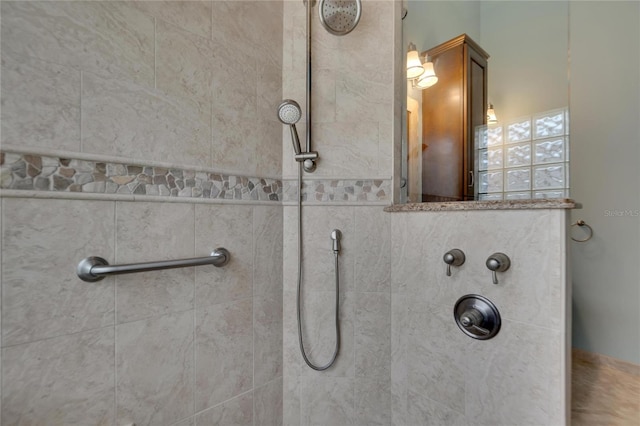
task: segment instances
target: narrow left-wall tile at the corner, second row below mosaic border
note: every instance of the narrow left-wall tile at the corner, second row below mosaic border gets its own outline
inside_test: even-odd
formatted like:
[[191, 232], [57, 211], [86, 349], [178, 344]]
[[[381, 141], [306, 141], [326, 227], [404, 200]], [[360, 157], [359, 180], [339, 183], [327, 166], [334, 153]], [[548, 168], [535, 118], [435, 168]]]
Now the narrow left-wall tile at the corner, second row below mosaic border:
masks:
[[282, 297], [253, 301], [253, 385], [282, 376]]

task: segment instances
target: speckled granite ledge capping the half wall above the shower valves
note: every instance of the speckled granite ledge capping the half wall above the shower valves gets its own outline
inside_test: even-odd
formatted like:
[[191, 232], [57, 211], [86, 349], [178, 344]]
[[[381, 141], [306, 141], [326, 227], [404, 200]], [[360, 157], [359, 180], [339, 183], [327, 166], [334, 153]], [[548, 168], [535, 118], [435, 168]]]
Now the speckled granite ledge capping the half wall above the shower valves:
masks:
[[534, 210], [576, 209], [580, 205], [568, 198], [513, 201], [447, 201], [432, 203], [394, 204], [386, 212], [437, 212], [460, 210]]

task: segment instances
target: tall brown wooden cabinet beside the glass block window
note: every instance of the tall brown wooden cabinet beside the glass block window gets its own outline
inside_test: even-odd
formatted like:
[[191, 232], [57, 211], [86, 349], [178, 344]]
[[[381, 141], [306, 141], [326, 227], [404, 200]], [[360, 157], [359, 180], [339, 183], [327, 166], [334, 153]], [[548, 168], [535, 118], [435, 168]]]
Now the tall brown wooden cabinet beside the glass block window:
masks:
[[473, 200], [474, 131], [487, 120], [489, 55], [466, 34], [424, 54], [438, 83], [422, 92], [422, 201]]

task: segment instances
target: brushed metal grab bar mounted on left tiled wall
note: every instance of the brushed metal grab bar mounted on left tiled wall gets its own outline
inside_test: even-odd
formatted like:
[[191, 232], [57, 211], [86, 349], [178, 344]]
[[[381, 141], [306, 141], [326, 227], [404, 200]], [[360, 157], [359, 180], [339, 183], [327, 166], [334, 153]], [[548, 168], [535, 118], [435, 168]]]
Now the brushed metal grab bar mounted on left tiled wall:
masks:
[[128, 263], [124, 265], [109, 265], [105, 259], [90, 256], [78, 263], [76, 273], [78, 277], [87, 282], [102, 280], [107, 275], [132, 274], [134, 272], [158, 271], [160, 269], [185, 268], [188, 266], [213, 265], [224, 266], [229, 263], [231, 254], [225, 248], [217, 248], [206, 257], [194, 257], [191, 259], [161, 260], [158, 262]]

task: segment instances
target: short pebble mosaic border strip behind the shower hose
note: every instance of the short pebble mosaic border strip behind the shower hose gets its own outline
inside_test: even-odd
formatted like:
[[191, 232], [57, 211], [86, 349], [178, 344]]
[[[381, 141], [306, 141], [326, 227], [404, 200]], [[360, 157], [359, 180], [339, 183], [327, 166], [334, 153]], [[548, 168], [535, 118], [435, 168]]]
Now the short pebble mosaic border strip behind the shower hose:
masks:
[[[296, 202], [298, 180], [284, 182], [283, 201]], [[302, 201], [315, 202], [391, 202], [389, 179], [306, 179], [302, 182]]]

